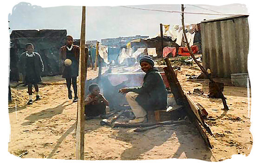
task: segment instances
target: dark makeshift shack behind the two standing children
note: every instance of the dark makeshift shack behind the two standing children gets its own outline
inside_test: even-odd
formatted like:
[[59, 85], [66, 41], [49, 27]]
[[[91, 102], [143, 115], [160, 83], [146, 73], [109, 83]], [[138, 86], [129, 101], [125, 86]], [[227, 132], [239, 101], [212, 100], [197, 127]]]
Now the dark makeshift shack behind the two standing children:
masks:
[[15, 30], [10, 35], [10, 80], [19, 81], [18, 61], [26, 44], [34, 44], [44, 63], [42, 76], [60, 75], [59, 50], [66, 44], [67, 30]]

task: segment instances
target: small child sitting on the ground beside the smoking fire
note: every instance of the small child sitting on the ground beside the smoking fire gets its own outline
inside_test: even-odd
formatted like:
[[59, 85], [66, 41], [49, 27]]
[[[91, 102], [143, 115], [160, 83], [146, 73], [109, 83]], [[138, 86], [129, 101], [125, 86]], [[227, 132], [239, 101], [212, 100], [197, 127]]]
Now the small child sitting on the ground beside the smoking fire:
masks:
[[100, 87], [98, 84], [91, 84], [89, 86], [90, 94], [85, 99], [85, 115], [88, 118], [101, 116], [105, 118], [106, 106], [108, 101], [100, 94]]

